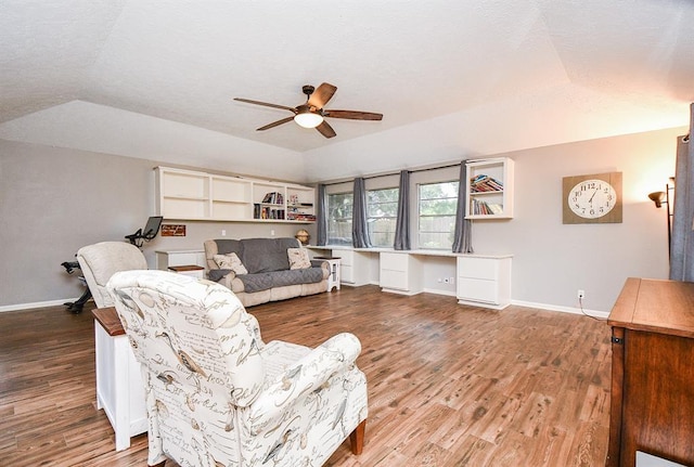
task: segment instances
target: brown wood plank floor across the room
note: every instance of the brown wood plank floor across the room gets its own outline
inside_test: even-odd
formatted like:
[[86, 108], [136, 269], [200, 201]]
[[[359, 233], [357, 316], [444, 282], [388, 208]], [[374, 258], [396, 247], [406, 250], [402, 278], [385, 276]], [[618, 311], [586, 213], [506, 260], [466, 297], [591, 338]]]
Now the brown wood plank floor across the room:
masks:
[[[604, 465], [604, 322], [375, 286], [249, 311], [266, 341], [317, 346], [344, 330], [360, 338], [370, 398], [364, 451], [354, 456], [345, 443], [327, 466]], [[91, 313], [5, 312], [0, 329], [0, 466], [146, 465], [146, 434], [116, 453], [95, 408]]]

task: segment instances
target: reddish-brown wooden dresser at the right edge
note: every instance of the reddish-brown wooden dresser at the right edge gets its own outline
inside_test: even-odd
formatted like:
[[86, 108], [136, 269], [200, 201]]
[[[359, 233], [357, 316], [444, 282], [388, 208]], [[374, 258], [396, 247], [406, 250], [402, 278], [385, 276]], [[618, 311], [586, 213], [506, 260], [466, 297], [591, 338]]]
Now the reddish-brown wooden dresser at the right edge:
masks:
[[630, 277], [612, 326], [609, 467], [694, 465], [694, 283]]

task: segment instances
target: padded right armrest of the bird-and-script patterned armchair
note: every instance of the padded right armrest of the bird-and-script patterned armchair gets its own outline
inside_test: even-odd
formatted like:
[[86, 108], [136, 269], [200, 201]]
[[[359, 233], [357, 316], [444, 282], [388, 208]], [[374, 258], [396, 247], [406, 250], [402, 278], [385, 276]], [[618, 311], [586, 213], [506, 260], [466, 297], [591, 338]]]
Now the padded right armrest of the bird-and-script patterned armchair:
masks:
[[257, 434], [275, 424], [296, 401], [319, 389], [331, 376], [352, 366], [360, 352], [357, 336], [342, 333], [295, 362], [248, 406], [252, 432]]

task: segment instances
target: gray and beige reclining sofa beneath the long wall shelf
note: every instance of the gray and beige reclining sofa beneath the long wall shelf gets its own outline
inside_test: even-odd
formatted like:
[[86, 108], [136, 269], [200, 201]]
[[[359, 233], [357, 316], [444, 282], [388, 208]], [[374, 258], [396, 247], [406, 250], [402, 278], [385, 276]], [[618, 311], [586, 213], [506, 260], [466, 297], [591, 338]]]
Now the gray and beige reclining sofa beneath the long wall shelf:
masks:
[[[229, 287], [244, 307], [268, 301], [285, 300], [327, 290], [330, 265], [311, 261], [306, 269], [290, 269], [287, 248], [299, 248], [296, 238], [208, 239], [205, 242], [207, 276]], [[234, 252], [247, 274], [220, 269], [215, 255]]]

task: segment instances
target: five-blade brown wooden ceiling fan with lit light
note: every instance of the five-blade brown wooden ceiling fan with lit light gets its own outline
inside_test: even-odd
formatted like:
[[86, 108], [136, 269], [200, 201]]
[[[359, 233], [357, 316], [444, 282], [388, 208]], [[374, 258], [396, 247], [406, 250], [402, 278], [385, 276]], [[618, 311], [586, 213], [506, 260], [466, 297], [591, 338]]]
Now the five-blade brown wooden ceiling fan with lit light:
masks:
[[372, 112], [359, 112], [359, 111], [330, 111], [324, 108], [327, 101], [330, 101], [337, 91], [337, 88], [327, 82], [323, 82], [318, 89], [310, 85], [305, 85], [301, 88], [304, 94], [306, 94], [306, 103], [297, 105], [296, 107], [288, 107], [286, 105], [270, 104], [267, 102], [252, 101], [249, 99], [234, 98], [234, 101], [246, 102], [248, 104], [265, 105], [266, 107], [282, 108], [290, 111], [294, 114], [292, 117], [286, 117], [272, 124], [268, 124], [265, 127], [258, 128], [256, 131], [269, 130], [270, 128], [278, 127], [287, 121], [296, 121], [297, 125], [304, 128], [316, 128], [323, 137], [333, 138], [336, 135], [333, 127], [325, 121], [327, 118], [347, 118], [350, 120], [381, 120], [383, 114], [375, 114]]

